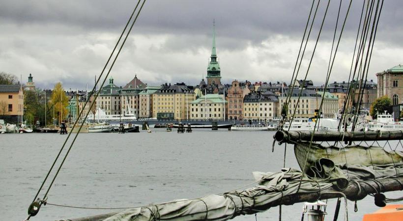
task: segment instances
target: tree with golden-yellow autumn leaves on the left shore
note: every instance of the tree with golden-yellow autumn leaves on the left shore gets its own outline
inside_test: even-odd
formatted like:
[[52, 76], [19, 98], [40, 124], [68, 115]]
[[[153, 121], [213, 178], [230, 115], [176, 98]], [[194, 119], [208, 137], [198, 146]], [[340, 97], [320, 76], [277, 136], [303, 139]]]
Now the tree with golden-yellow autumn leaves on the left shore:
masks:
[[55, 114], [58, 116], [58, 123], [62, 122], [67, 117], [67, 106], [69, 100], [60, 82], [55, 84], [49, 103], [51, 107], [55, 108]]

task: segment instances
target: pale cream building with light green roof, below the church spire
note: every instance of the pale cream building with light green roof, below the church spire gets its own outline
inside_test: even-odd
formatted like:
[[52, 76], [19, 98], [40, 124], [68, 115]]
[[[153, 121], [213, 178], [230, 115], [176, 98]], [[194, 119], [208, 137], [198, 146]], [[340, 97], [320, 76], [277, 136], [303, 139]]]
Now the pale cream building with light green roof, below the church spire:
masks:
[[224, 94], [206, 94], [190, 102], [190, 119], [192, 120], [224, 120], [228, 112]]

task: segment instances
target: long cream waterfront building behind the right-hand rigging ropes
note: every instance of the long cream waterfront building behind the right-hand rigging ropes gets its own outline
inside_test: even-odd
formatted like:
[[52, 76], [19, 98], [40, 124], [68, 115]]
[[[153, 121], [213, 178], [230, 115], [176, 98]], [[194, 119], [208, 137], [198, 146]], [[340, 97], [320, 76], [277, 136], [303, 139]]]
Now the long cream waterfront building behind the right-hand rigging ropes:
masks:
[[[278, 115], [281, 115], [283, 110], [283, 105], [287, 99], [287, 93], [291, 90], [289, 89], [284, 96], [279, 97], [280, 103], [278, 108]], [[298, 96], [300, 89], [294, 89], [292, 91], [289, 103], [288, 103], [288, 120], [292, 117], [295, 111], [296, 118], [310, 118], [315, 116], [315, 110], [319, 109], [320, 101], [324, 95], [323, 105], [322, 105], [322, 117], [324, 118], [334, 118], [335, 114], [339, 111], [339, 99], [329, 92], [315, 91], [303, 89], [301, 97]]]

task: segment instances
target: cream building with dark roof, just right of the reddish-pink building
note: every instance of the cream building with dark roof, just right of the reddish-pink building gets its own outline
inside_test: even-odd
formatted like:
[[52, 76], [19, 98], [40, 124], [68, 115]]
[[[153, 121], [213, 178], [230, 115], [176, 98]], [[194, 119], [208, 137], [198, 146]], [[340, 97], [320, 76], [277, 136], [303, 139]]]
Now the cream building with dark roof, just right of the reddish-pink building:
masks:
[[243, 99], [243, 119], [253, 121], [269, 121], [278, 114], [279, 100], [271, 91], [253, 92]]

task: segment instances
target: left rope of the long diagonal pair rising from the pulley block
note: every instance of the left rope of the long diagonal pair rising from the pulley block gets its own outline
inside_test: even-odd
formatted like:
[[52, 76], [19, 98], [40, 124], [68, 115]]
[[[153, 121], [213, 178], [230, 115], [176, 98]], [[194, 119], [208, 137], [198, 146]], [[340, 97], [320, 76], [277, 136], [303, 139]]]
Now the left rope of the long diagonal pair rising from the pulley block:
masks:
[[[100, 74], [100, 76], [99, 76], [97, 82], [95, 83], [94, 87], [92, 88], [91, 94], [93, 93], [93, 91], [95, 91], [96, 85], [98, 84], [99, 80], [101, 79], [101, 76], [103, 75], [103, 73], [104, 73], [104, 71], [105, 71], [105, 69], [106, 69], [106, 67], [107, 67], [107, 65], [108, 65], [108, 63], [109, 63], [109, 61], [111, 60], [112, 55], [115, 53], [115, 49], [116, 49], [117, 45], [119, 44], [119, 42], [120, 42], [120, 40], [121, 40], [121, 38], [122, 38], [122, 36], [123, 36], [123, 33], [125, 32], [127, 26], [129, 25], [130, 21], [132, 20], [132, 17], [133, 17], [133, 15], [134, 15], [134, 13], [135, 13], [135, 11], [136, 11], [137, 6], [139, 5], [139, 3], [140, 3], [140, 0], [138, 1], [138, 3], [137, 3], [137, 5], [136, 5], [135, 9], [133, 10], [133, 12], [132, 12], [132, 14], [131, 14], [129, 20], [127, 21], [126, 26], [123, 28], [123, 31], [122, 31], [122, 33], [120, 34], [120, 37], [119, 37], [118, 41], [117, 41], [116, 44], [115, 44], [115, 48], [112, 50], [112, 53], [111, 53], [111, 55], [109, 56], [108, 61], [106, 62], [104, 68], [102, 69], [102, 72], [101, 72], [101, 74]], [[88, 101], [89, 101], [89, 100], [86, 101], [84, 107], [86, 107]], [[95, 102], [93, 102], [93, 104], [94, 104], [94, 103], [95, 103]], [[90, 107], [89, 109], [91, 109], [92, 106], [93, 106], [93, 105], [91, 105], [91, 107]], [[84, 108], [81, 110], [80, 115], [83, 113], [83, 111], [84, 111]], [[87, 115], [88, 115], [88, 114], [87, 114]], [[78, 120], [79, 120], [79, 119], [77, 118], [76, 121], [74, 122], [73, 128], [76, 126]], [[81, 129], [81, 127], [80, 127], [80, 129]], [[80, 129], [79, 129], [79, 130], [80, 130]], [[63, 150], [64, 146], [66, 145], [67, 140], [70, 138], [70, 135], [71, 135], [72, 131], [73, 131], [73, 130], [70, 131], [70, 133], [68, 134], [67, 138], [64, 140], [64, 143], [63, 143], [63, 145], [61, 146], [60, 151], [58, 152], [58, 155], [56, 156], [55, 161], [53, 162], [51, 168], [49, 169], [48, 173], [46, 174], [45, 179], [43, 180], [41, 186], [40, 186], [39, 189], [38, 189], [38, 192], [37, 192], [37, 193], [35, 194], [35, 196], [33, 197], [32, 202], [34, 202], [34, 201], [36, 200], [36, 197], [38, 197], [40, 191], [42, 190], [42, 188], [43, 188], [43, 186], [44, 186], [46, 180], [47, 180], [48, 177], [49, 177], [49, 174], [51, 173], [51, 171], [53, 170], [53, 167], [55, 166], [56, 162], [58, 161], [58, 158], [59, 158], [59, 156], [60, 156], [60, 154], [61, 154], [61, 151]], [[79, 134], [79, 133], [77, 133], [77, 134]]]

